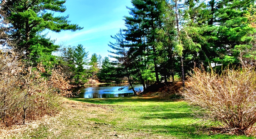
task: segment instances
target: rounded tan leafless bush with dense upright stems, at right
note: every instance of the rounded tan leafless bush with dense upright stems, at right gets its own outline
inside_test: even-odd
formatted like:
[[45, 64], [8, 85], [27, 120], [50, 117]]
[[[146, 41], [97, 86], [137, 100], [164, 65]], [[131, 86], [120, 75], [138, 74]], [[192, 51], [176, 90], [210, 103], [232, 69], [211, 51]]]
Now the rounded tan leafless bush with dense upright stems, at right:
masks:
[[224, 72], [219, 76], [194, 69], [182, 93], [190, 104], [199, 106], [198, 117], [245, 134], [256, 122], [255, 69], [247, 66]]

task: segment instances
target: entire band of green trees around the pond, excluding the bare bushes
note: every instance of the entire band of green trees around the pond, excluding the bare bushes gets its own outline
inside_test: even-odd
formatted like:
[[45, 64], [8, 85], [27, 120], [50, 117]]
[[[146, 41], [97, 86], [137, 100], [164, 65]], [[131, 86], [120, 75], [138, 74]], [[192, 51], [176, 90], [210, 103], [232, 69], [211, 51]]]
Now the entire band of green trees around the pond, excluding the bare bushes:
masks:
[[[64, 12], [65, 1], [4, 1], [6, 29], [3, 31], [15, 47], [36, 65], [60, 66], [73, 84], [89, 79], [150, 84], [174, 81], [195, 67], [221, 72], [227, 66], [239, 67], [240, 60], [254, 60], [255, 4], [251, 0], [166, 1], [133, 0], [124, 16], [127, 29], [111, 36], [109, 57], [88, 52], [83, 45], [55, 45], [41, 34], [49, 29], [76, 31]], [[4, 18], [2, 18], [4, 19]], [[3, 20], [2, 20], [3, 21]], [[1, 45], [8, 45], [2, 39]], [[55, 54], [55, 55], [52, 55]], [[116, 59], [113, 60], [112, 58]], [[111, 61], [111, 60], [112, 61]], [[248, 61], [249, 62], [249, 61]], [[48, 72], [46, 72], [45, 76]]]

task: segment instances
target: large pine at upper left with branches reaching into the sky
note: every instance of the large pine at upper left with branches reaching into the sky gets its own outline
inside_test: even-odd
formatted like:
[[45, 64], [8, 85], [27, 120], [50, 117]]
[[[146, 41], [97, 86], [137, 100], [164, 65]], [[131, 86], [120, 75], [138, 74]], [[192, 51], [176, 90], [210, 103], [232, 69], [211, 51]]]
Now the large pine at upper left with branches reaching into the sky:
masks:
[[51, 53], [59, 46], [54, 45], [54, 41], [40, 33], [45, 29], [55, 32], [82, 29], [76, 24], [69, 24], [68, 16], [54, 16], [56, 12], [66, 11], [63, 5], [65, 2], [62, 0], [19, 0], [5, 3], [3, 8], [7, 11], [8, 20], [12, 22], [16, 30], [12, 37], [18, 40], [18, 51], [25, 51], [26, 56], [31, 56], [31, 60], [34, 61], [38, 61], [38, 58], [54, 59]]

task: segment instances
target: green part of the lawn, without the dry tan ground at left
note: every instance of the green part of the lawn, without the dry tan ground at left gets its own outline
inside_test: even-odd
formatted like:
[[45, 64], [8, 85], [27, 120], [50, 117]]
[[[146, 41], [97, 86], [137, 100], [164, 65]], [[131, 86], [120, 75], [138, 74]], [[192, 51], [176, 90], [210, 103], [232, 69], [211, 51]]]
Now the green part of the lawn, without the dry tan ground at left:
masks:
[[105, 123], [117, 122], [119, 130], [137, 130], [150, 134], [173, 136], [175, 138], [218, 138], [242, 139], [254, 138], [236, 135], [206, 135], [199, 119], [194, 119], [192, 111], [186, 102], [161, 101], [141, 97], [103, 98], [103, 99], [73, 99], [76, 101], [109, 104], [116, 110], [118, 119], [102, 118]]

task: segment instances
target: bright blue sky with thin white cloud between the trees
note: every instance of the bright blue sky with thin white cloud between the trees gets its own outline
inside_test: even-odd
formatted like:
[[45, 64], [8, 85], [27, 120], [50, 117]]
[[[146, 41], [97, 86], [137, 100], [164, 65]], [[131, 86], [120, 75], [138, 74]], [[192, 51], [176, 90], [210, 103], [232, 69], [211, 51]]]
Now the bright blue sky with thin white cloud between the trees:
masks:
[[130, 0], [67, 0], [65, 6], [67, 10], [61, 15], [69, 15], [71, 24], [84, 28], [61, 33], [46, 30], [47, 37], [57, 39], [55, 44], [82, 44], [86, 51], [89, 51], [89, 57], [96, 53], [104, 58], [110, 54], [109, 41], [115, 41], [110, 35], [115, 35], [120, 28], [125, 28], [123, 16], [129, 16], [126, 6], [132, 7], [132, 4]]

